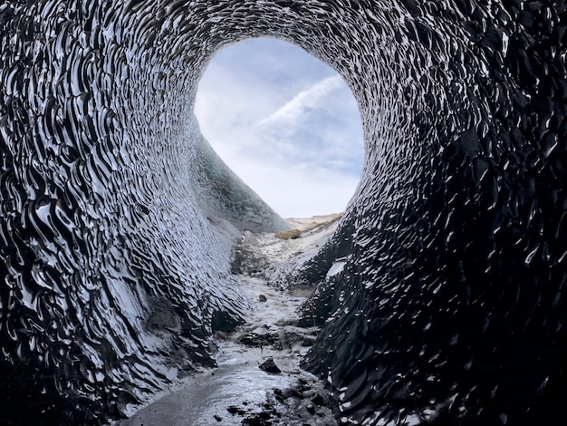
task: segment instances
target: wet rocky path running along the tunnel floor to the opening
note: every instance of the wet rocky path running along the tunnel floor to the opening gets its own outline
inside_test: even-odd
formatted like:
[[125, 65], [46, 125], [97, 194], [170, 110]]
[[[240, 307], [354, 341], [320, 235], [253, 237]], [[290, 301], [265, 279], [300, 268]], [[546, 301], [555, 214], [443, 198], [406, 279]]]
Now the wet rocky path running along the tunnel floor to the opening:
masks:
[[245, 232], [232, 269], [254, 309], [234, 332], [216, 334], [218, 367], [120, 425], [336, 425], [323, 383], [299, 367], [319, 331], [297, 325], [311, 289], [274, 283], [311, 258], [339, 218], [288, 219], [299, 232], [287, 234]]

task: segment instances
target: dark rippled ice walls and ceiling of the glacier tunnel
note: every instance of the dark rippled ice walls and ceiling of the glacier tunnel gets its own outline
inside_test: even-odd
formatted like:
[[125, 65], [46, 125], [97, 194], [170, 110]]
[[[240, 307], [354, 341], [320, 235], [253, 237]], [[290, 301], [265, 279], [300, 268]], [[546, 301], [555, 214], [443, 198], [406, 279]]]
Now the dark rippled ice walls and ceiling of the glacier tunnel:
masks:
[[214, 363], [212, 330], [246, 308], [231, 238], [285, 225], [192, 104], [218, 49], [264, 35], [360, 106], [360, 186], [301, 271], [317, 286], [347, 258], [304, 361], [341, 418], [560, 422], [566, 29], [560, 1], [3, 2], [2, 421], [117, 419]]

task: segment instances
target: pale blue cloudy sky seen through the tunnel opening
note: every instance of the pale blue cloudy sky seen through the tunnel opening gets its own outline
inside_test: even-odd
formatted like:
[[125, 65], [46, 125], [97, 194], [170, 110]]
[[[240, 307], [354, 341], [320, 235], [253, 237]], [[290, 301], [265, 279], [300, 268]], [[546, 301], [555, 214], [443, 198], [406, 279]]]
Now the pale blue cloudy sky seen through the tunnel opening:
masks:
[[344, 210], [364, 161], [358, 106], [332, 68], [271, 38], [216, 53], [197, 90], [201, 132], [283, 218]]

